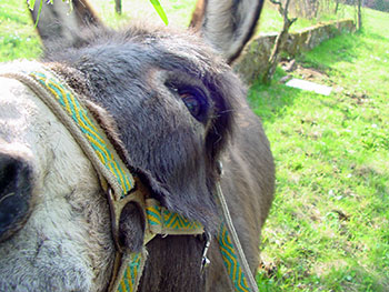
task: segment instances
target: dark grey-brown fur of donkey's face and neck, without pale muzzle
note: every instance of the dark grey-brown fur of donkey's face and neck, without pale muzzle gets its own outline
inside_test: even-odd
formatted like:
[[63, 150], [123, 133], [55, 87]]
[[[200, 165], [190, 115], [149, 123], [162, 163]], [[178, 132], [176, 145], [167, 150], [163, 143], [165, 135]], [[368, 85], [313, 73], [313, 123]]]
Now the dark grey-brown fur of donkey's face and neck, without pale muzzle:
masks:
[[[44, 43], [50, 47], [43, 62], [86, 97], [152, 195], [169, 210], [200, 221], [212, 234], [211, 264], [205, 274], [201, 238], [152, 240], [140, 291], [231, 290], [215, 240], [220, 223], [215, 202], [219, 160], [225, 169], [222, 189], [255, 272], [275, 167], [261, 122], [246, 101], [246, 88], [222, 58], [190, 32], [144, 24], [119, 32], [100, 24]], [[186, 90], [201, 92], [208, 107], [203, 120], [194, 119], [182, 102], [180, 93]], [[121, 231], [128, 236], [126, 244], [137, 250], [142, 226], [136, 210], [129, 209], [128, 217], [137, 226]], [[133, 236], [138, 241], [129, 240]]]

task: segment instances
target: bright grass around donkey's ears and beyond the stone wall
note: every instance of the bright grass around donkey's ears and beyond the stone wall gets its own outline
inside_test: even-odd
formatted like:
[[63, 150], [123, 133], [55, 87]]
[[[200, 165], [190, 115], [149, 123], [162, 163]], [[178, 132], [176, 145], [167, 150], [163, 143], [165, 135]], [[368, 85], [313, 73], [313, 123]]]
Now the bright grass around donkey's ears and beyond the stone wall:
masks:
[[[37, 0], [39, 1], [39, 0]], [[196, 0], [160, 0], [169, 26], [187, 28]], [[122, 0], [122, 16], [114, 13], [114, 0], [90, 0], [104, 23], [113, 28], [123, 27], [131, 20], [140, 19], [162, 24], [161, 19], [148, 0]], [[291, 27], [297, 31], [320, 21], [353, 18], [353, 10], [341, 7], [337, 16], [325, 14], [320, 19], [298, 19]], [[280, 31], [282, 18], [273, 6], [265, 6], [258, 33]], [[36, 59], [41, 54], [40, 41], [33, 29], [27, 4], [22, 0], [2, 1], [0, 9], [0, 62], [26, 58]]]

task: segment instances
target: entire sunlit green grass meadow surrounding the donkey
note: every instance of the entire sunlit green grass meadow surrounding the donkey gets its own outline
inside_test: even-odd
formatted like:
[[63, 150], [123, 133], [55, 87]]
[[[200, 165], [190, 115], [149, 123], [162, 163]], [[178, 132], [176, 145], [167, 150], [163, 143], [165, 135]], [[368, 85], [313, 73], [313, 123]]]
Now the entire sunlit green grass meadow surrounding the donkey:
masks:
[[[91, 1], [112, 27], [161, 20], [148, 1]], [[193, 0], [161, 1], [184, 28]], [[340, 16], [353, 14], [343, 9]], [[297, 57], [298, 78], [332, 87], [329, 97], [286, 87], [278, 68], [268, 87], [249, 90], [277, 164], [276, 200], [262, 234], [260, 291], [388, 291], [389, 14], [365, 9], [363, 29]], [[277, 31], [266, 6], [259, 32]], [[299, 19], [295, 30], [312, 24]], [[40, 43], [20, 0], [1, 2], [0, 61], [37, 58]], [[313, 73], [315, 74], [313, 74]]]

